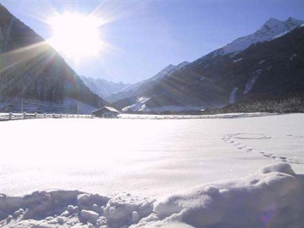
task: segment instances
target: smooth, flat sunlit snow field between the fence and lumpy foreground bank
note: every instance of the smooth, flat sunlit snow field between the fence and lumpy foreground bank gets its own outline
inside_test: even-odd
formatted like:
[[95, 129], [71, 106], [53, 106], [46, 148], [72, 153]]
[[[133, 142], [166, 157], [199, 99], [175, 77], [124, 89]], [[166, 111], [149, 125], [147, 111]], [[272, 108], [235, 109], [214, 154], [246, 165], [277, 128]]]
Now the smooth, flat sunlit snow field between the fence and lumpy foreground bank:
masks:
[[0, 193], [20, 196], [59, 188], [160, 197], [201, 183], [245, 177], [283, 157], [302, 174], [303, 120], [303, 115], [293, 114], [1, 122], [2, 151], [10, 152], [0, 160]]

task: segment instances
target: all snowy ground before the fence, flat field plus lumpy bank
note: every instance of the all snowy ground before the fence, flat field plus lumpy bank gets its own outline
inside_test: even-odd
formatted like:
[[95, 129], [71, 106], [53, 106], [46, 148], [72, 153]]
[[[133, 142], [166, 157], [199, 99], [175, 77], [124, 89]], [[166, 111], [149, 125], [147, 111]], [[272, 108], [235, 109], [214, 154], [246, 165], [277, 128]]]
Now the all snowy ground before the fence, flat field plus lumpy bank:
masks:
[[0, 122], [0, 220], [12, 215], [0, 227], [302, 227], [303, 126], [302, 114]]

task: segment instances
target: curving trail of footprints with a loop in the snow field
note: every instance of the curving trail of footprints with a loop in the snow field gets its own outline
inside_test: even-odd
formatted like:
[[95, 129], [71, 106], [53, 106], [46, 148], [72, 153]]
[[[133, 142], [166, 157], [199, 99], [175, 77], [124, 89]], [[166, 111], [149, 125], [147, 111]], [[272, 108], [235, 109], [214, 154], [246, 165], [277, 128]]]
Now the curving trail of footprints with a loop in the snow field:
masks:
[[[287, 136], [293, 136], [293, 135], [287, 135]], [[293, 137], [301, 137], [301, 136], [293, 136]], [[272, 153], [266, 153], [266, 152], [263, 152], [263, 151], [256, 151], [252, 147], [244, 145], [243, 143], [240, 143], [240, 142], [236, 141], [236, 139], [265, 140], [265, 139], [271, 139], [271, 138], [272, 137], [264, 135], [264, 134], [236, 133], [236, 134], [224, 135], [222, 137], [222, 140], [233, 144], [235, 147], [237, 147], [240, 150], [247, 151], [247, 152], [258, 153], [265, 158], [275, 159], [275, 160], [278, 160], [280, 162], [303, 164], [303, 162], [298, 161], [296, 159], [289, 159], [285, 156], [277, 156], [277, 155], [274, 155]]]

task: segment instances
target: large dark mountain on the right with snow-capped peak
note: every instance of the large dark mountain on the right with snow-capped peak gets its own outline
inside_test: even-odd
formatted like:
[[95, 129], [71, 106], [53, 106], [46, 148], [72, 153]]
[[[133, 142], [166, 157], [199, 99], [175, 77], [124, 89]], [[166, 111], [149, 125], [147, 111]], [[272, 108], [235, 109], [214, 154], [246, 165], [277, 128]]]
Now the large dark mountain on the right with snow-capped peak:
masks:
[[278, 21], [270, 19], [253, 33], [255, 35], [245, 36], [258, 37], [257, 34], [261, 34], [267, 25], [269, 30], [276, 32], [271, 32], [273, 36], [263, 32], [263, 37], [268, 37], [266, 40], [241, 51], [240, 48], [235, 49], [237, 52], [230, 52], [232, 48], [220, 48], [158, 81], [150, 82], [144, 89], [134, 92], [136, 96], [115, 104], [129, 112], [160, 112], [210, 109], [238, 101], [302, 97], [304, 27], [300, 25], [289, 31], [295, 26], [295, 21], [300, 23], [291, 18], [282, 22], [292, 24], [282, 32], [278, 26], [281, 22], [273, 23]]

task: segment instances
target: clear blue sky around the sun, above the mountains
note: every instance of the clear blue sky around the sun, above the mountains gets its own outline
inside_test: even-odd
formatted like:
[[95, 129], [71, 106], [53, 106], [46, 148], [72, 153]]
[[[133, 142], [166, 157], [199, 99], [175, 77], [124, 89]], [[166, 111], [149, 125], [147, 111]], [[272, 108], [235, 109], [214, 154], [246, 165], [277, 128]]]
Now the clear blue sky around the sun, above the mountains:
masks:
[[100, 27], [102, 39], [115, 49], [75, 64], [80, 75], [114, 82], [147, 79], [168, 64], [195, 59], [255, 31], [270, 17], [304, 19], [303, 0], [201, 1], [0, 1], [11, 13], [48, 39], [43, 18], [77, 11], [116, 19]]

